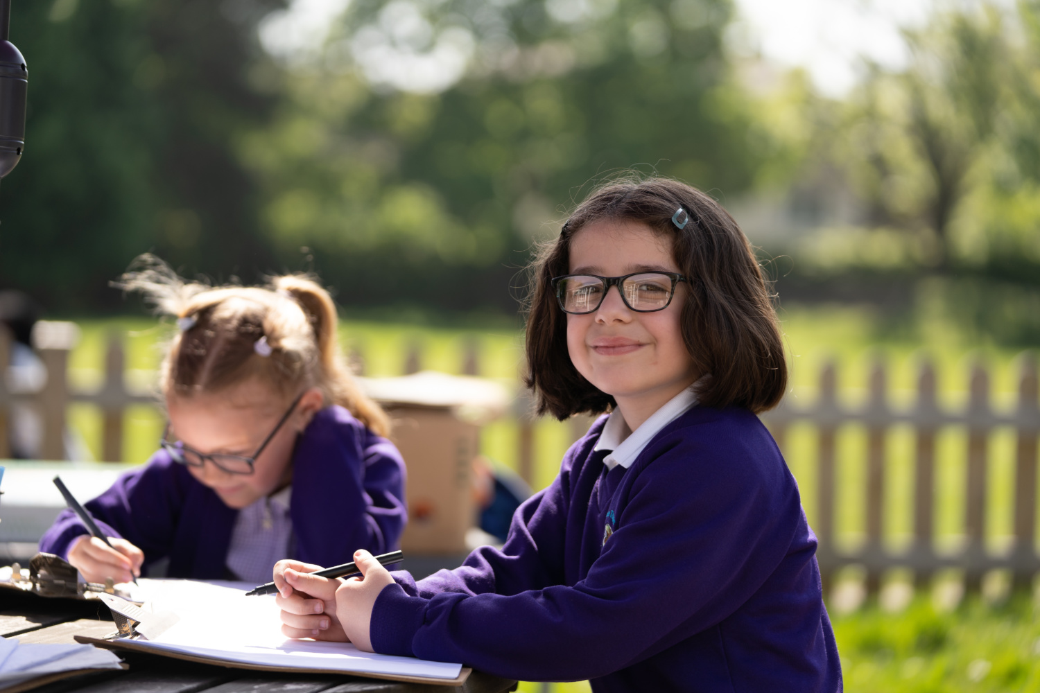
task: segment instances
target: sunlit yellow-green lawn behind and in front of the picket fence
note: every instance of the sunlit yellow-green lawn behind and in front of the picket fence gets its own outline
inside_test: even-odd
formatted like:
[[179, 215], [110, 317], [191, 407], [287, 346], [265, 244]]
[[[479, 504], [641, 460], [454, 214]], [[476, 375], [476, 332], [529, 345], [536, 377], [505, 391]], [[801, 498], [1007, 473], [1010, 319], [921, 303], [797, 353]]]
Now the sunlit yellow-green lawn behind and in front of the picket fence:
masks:
[[[940, 404], [961, 406], [967, 399], [969, 366], [979, 361], [991, 374], [994, 406], [1011, 408], [1017, 391], [1017, 350], [1003, 349], [965, 339], [941, 322], [924, 322], [917, 334], [905, 339], [879, 336], [872, 314], [854, 309], [790, 309], [782, 314], [790, 364], [788, 397], [799, 403], [813, 401], [820, 370], [828, 359], [838, 366], [839, 396], [848, 402], [866, 397], [866, 380], [873, 359], [881, 357], [889, 367], [889, 399], [909, 406], [915, 396], [916, 369], [922, 355], [933, 358], [938, 372]], [[82, 387], [100, 382], [105, 336], [110, 330], [126, 334], [127, 368], [154, 371], [160, 351], [157, 344], [168, 327], [153, 320], [82, 320], [83, 339], [72, 356], [73, 380]], [[364, 358], [367, 375], [397, 375], [410, 350], [418, 349], [420, 367], [449, 373], [463, 369], [466, 345], [478, 345], [479, 374], [515, 387], [522, 365], [522, 337], [512, 329], [436, 329], [400, 323], [347, 320], [342, 327], [344, 348]], [[150, 374], [135, 376], [147, 381]], [[72, 421], [87, 447], [98, 454], [100, 416], [85, 405], [72, 410]], [[131, 410], [125, 427], [124, 449], [128, 460], [144, 461], [161, 432], [160, 415], [149, 407]], [[517, 426], [512, 418], [488, 425], [483, 432], [485, 454], [515, 467]], [[542, 421], [536, 428], [535, 486], [551, 481], [567, 446], [573, 441], [573, 424]], [[862, 479], [865, 468], [865, 432], [850, 426], [838, 436], [839, 540], [855, 542], [863, 531]], [[885, 531], [893, 544], [909, 537], [912, 523], [913, 434], [909, 428], [893, 429], [886, 442]], [[989, 443], [989, 504], [987, 534], [999, 543], [1011, 532], [1014, 435], [997, 431]], [[936, 463], [936, 528], [941, 541], [953, 543], [961, 535], [965, 476], [965, 434], [953, 428], [940, 433]], [[802, 488], [810, 523], [815, 511], [815, 432], [796, 426], [787, 433], [785, 456]], [[1040, 534], [1040, 532], [1038, 532]], [[953, 613], [936, 612], [927, 597], [918, 597], [905, 612], [893, 615], [868, 606], [854, 614], [835, 614], [835, 628], [850, 691], [989, 691], [1040, 690], [1040, 667], [1034, 664], [1040, 651], [1035, 608], [1023, 599], [1003, 607], [971, 601]], [[524, 684], [522, 691], [539, 691]], [[556, 685], [555, 693], [588, 690], [583, 683]]]

